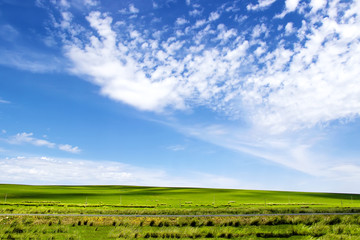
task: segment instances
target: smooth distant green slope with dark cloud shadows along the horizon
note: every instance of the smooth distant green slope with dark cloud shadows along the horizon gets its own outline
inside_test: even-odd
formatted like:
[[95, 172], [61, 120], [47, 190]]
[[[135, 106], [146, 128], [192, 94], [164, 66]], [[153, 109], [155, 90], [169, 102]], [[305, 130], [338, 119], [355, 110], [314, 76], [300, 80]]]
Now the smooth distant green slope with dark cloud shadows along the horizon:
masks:
[[[7, 196], [6, 196], [7, 195]], [[326, 204], [360, 206], [359, 194], [135, 186], [31, 186], [0, 184], [0, 201], [58, 201], [77, 204]]]

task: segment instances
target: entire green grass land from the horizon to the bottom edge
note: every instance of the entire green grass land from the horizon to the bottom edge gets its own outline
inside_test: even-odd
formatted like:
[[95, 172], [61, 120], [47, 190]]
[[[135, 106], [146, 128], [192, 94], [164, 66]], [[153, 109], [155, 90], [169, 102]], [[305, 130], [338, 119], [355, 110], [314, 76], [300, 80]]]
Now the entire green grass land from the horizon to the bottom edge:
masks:
[[[360, 195], [131, 186], [0, 185], [0, 213], [360, 212]], [[0, 216], [0, 239], [360, 239], [360, 214], [255, 217]]]

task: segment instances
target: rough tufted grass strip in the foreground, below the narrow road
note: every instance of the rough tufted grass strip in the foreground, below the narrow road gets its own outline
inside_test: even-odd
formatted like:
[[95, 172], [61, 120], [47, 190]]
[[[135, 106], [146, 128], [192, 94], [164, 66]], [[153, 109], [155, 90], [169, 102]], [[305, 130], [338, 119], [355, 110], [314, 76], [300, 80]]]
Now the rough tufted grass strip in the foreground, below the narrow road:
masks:
[[360, 216], [0, 217], [0, 239], [360, 239]]

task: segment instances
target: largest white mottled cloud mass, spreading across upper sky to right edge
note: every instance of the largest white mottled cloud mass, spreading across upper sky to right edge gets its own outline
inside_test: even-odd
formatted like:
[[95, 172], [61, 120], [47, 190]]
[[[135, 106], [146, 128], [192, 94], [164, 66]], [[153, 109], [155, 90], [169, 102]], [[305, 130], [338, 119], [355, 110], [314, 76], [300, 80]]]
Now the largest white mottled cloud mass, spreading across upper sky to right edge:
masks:
[[[140, 110], [205, 105], [272, 134], [297, 131], [360, 115], [360, 19], [354, 14], [359, 3], [339, 4], [332, 2], [316, 17], [305, 14], [299, 41], [290, 46], [281, 38], [293, 32], [293, 24], [279, 29], [275, 49], [267, 46], [265, 24], [252, 32], [224, 24], [200, 31], [184, 26], [165, 39], [161, 30], [152, 36], [124, 25], [129, 36], [138, 33], [129, 39], [112, 28], [111, 17], [92, 12], [87, 19], [98, 36], [83, 46], [80, 39], [68, 41], [65, 51], [74, 73], [85, 75], [103, 95]], [[286, 6], [295, 11], [298, 1]], [[179, 41], [176, 34], [193, 42]]]

